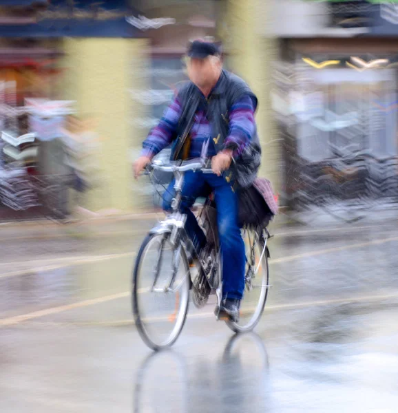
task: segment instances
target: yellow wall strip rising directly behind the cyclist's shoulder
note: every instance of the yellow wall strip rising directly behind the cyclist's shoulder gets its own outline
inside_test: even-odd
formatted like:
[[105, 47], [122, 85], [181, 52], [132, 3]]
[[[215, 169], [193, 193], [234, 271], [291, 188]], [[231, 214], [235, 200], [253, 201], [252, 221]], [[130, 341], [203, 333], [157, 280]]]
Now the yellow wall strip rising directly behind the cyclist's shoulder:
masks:
[[265, 3], [261, 0], [228, 0], [226, 24], [222, 33], [231, 70], [242, 76], [258, 96], [256, 121], [263, 152], [260, 175], [271, 180], [276, 192], [280, 187], [281, 150], [273, 121], [270, 90], [271, 63], [276, 60], [277, 41], [262, 37], [256, 32], [258, 15]]

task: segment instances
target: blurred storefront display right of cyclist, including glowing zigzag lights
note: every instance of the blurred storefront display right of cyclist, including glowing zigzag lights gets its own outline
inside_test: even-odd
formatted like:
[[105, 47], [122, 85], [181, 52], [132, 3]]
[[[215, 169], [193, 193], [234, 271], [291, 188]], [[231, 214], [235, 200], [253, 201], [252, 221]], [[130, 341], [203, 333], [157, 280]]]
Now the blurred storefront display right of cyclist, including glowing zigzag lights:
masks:
[[395, 54], [297, 53], [288, 76], [275, 70], [293, 209], [397, 202], [396, 61]]

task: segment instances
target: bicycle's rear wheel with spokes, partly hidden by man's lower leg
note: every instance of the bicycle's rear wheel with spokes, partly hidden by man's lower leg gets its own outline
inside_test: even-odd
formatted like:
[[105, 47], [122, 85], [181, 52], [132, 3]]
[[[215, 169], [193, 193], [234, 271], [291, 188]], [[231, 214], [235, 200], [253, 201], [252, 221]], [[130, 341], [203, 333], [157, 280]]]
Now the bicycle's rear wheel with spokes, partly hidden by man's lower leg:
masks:
[[253, 330], [260, 321], [269, 290], [268, 250], [262, 235], [257, 231], [243, 231], [246, 248], [246, 272], [243, 299], [238, 323], [227, 321], [235, 332]]

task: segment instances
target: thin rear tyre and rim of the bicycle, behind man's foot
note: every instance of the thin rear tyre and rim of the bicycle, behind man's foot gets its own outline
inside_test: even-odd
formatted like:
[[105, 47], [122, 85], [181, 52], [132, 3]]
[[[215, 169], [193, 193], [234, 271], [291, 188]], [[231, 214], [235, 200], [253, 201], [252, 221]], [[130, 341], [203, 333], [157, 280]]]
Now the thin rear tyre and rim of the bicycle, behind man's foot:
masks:
[[[259, 240], [258, 246], [260, 246], [260, 251], [262, 251], [264, 249], [264, 241]], [[258, 300], [257, 306], [255, 307], [255, 314], [253, 315], [249, 323], [246, 325], [240, 325], [240, 321], [238, 321], [238, 323], [235, 323], [234, 321], [226, 321], [227, 326], [231, 328], [231, 330], [233, 330], [234, 332], [250, 332], [255, 328], [255, 326], [257, 326], [258, 322], [261, 319], [262, 313], [264, 312], [266, 299], [268, 297], [268, 291], [269, 291], [268, 257], [269, 257], [268, 248], [265, 247], [264, 255], [262, 256], [262, 267], [264, 268], [262, 271], [262, 277], [261, 277], [262, 293], [260, 293], [260, 299]], [[245, 285], [245, 288], [246, 288], [246, 285]], [[244, 302], [244, 297], [242, 299], [242, 302]], [[242, 312], [242, 308], [241, 308], [241, 312]]]

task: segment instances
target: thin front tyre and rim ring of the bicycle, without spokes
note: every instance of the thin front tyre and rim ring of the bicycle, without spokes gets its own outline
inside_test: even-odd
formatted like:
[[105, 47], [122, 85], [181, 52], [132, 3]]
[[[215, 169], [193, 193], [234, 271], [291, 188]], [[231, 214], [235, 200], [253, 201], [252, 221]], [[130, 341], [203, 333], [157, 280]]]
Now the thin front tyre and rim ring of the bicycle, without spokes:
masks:
[[[140, 269], [141, 269], [141, 264], [143, 257], [145, 257], [145, 252], [147, 251], [148, 246], [150, 243], [157, 237], [165, 237], [163, 234], [149, 234], [147, 237], [145, 237], [145, 240], [143, 241], [143, 244], [140, 246], [140, 250], [138, 251], [138, 255], [136, 257], [136, 262], [134, 264], [134, 271], [133, 271], [133, 277], [132, 277], [132, 312], [133, 312], [133, 317], [134, 317], [134, 322], [136, 324], [136, 328], [138, 330], [138, 333], [143, 339], [144, 343], [151, 348], [152, 350], [161, 350], [163, 348], [169, 348], [171, 347], [178, 337], [180, 336], [180, 333], [182, 331], [182, 328], [185, 325], [185, 321], [187, 319], [187, 313], [188, 313], [188, 308], [189, 308], [189, 262], [187, 259], [187, 255], [185, 254], [184, 248], [180, 248], [180, 259], [182, 260], [182, 265], [185, 267], [185, 272], [187, 274], [187, 282], [182, 282], [181, 286], [183, 288], [183, 293], [186, 295], [185, 303], [183, 306], [179, 309], [178, 311], [178, 317], [180, 317], [180, 320], [178, 321], [179, 325], [176, 329], [174, 329], [171, 332], [171, 335], [169, 339], [167, 339], [165, 342], [162, 343], [156, 343], [151, 337], [149, 337], [149, 334], [147, 332], [147, 329], [145, 328], [145, 322], [143, 321], [143, 317], [141, 317], [141, 312], [140, 312], [140, 306], [139, 306], [139, 300], [138, 300], [138, 286], [139, 286], [139, 277], [140, 277]], [[163, 247], [162, 247], [163, 248]]]

